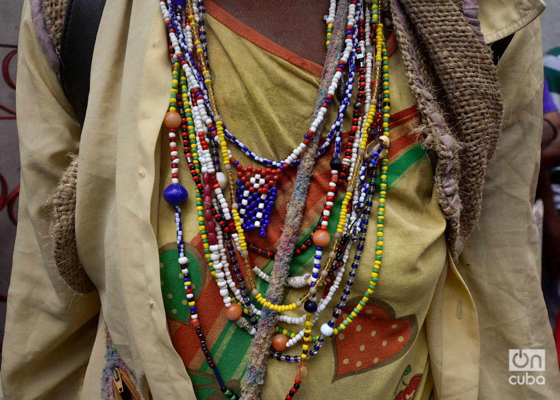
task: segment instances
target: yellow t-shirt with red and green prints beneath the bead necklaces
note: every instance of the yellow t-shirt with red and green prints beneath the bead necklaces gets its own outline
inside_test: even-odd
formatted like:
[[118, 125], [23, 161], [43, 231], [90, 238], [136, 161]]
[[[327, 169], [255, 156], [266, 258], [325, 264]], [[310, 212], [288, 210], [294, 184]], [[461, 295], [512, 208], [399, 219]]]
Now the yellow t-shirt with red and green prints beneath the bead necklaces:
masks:
[[[225, 124], [232, 135], [260, 156], [268, 159], [286, 157], [291, 149], [297, 147], [307, 130], [320, 83], [320, 67], [279, 49], [256, 32], [246, 35], [250, 32], [248, 27], [231, 16], [225, 18], [225, 13], [216, 7], [207, 11], [209, 59], [217, 106]], [[393, 82], [404, 79], [399, 54], [390, 58], [389, 71]], [[424, 319], [437, 280], [446, 266], [446, 223], [437, 203], [433, 171], [421, 147], [421, 138], [411, 134], [419, 121], [413, 98], [405, 85], [398, 84], [391, 86], [391, 95], [392, 147], [379, 285], [353, 323], [335, 338], [326, 338], [323, 348], [310, 358], [307, 378], [297, 393], [301, 399], [340, 397], [349, 389], [356, 397], [387, 400], [423, 399], [428, 398], [431, 392]], [[334, 121], [337, 109], [338, 104], [330, 107], [328, 126]], [[160, 192], [171, 183], [168, 142], [164, 133]], [[254, 164], [233, 144], [228, 147], [242, 164]], [[324, 188], [328, 187], [331, 158], [332, 148], [315, 164], [297, 244], [309, 237], [326, 201]], [[180, 182], [190, 195], [181, 207], [181, 213], [197, 312], [208, 348], [226, 386], [239, 392], [249, 359], [251, 336], [224, 314], [218, 287], [204, 261], [194, 185], [184, 164], [180, 164]], [[246, 233], [248, 241], [267, 250], [276, 250], [281, 235], [278, 227], [282, 227], [284, 222], [294, 180], [295, 168], [292, 168], [277, 182], [278, 196], [267, 236], [261, 238], [256, 232], [249, 232]], [[333, 215], [337, 214], [341, 201], [338, 196]], [[375, 220], [370, 225], [374, 223]], [[330, 231], [334, 227], [335, 223], [329, 224]], [[171, 339], [192, 379], [197, 399], [222, 398], [213, 371], [200, 350], [194, 328], [189, 326], [189, 307], [177, 261], [174, 211], [163, 199], [158, 208], [157, 232], [161, 289]], [[318, 335], [321, 324], [332, 316], [333, 307], [348, 277], [354, 249], [355, 246], [350, 253], [343, 282], [315, 323], [312, 335]], [[313, 256], [314, 247], [295, 256], [290, 275], [310, 271]], [[251, 253], [251, 258], [256, 266], [270, 274], [273, 261], [256, 253]], [[368, 287], [374, 259], [375, 227], [370, 227], [352, 294], [338, 322], [342, 322], [342, 318], [346, 318], [362, 298]], [[264, 294], [267, 284], [258, 278], [257, 284]], [[287, 290], [284, 303], [298, 300], [305, 292], [305, 288]], [[260, 304], [255, 305], [260, 308]], [[300, 308], [286, 314], [300, 317], [303, 313]], [[302, 324], [295, 326], [279, 322], [278, 325], [295, 333], [303, 328]], [[284, 354], [299, 356], [301, 343], [288, 348]], [[295, 369], [296, 363], [270, 357], [261, 398], [283, 398], [293, 384]]]

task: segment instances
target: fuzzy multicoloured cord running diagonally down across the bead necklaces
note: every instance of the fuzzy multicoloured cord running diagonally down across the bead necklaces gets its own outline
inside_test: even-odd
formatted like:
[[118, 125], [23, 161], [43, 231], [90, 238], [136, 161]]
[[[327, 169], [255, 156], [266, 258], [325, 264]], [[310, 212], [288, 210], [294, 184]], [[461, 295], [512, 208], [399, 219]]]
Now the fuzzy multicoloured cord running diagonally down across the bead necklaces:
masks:
[[[337, 4], [333, 35], [330, 39], [329, 50], [325, 57], [323, 78], [321, 79], [313, 117], [317, 115], [321, 108], [323, 98], [330, 84], [330, 77], [332, 77], [335, 68], [337, 68], [338, 59], [342, 53], [348, 3], [349, 0], [341, 0]], [[292, 196], [286, 208], [286, 223], [282, 230], [280, 245], [276, 252], [274, 267], [270, 275], [270, 283], [266, 294], [267, 299], [273, 304], [281, 303], [284, 294], [284, 284], [286, 283], [288, 272], [290, 272], [290, 262], [292, 261], [293, 249], [300, 232], [307, 188], [309, 187], [312, 168], [317, 157], [316, 152], [319, 148], [319, 139], [321, 137], [321, 131], [323, 131], [325, 120], [326, 118], [323, 119], [323, 123], [311, 137], [311, 142], [307, 145], [306, 152], [302, 156], [300, 166], [297, 169]], [[263, 309], [259, 320], [258, 331], [252, 341], [253, 346], [251, 347], [247, 373], [245, 374], [245, 384], [241, 389], [241, 400], [259, 399], [260, 387], [264, 383], [264, 373], [266, 370], [269, 348], [272, 343], [272, 336], [274, 335], [274, 326], [277, 321], [278, 313], [276, 311], [267, 308]]]

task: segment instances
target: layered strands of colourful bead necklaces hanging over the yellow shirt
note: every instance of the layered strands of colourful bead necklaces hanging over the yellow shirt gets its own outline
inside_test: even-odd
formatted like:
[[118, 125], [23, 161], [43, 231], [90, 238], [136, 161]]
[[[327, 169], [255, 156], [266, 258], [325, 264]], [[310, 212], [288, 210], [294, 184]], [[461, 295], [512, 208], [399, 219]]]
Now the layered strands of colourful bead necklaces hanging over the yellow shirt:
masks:
[[[192, 0], [166, 0], [159, 3], [169, 33], [172, 65], [169, 112], [164, 119], [165, 126], [169, 128], [171, 185], [166, 187], [163, 197], [175, 210], [178, 262], [183, 272], [190, 324], [195, 328], [203, 354], [226, 398], [237, 398], [237, 394], [226, 388], [208, 349], [198, 319], [189, 276], [189, 260], [184, 252], [179, 206], [184, 203], [188, 193], [179, 183], [178, 140], [181, 141], [186, 164], [195, 185], [204, 257], [223, 299], [226, 317], [235, 321], [250, 335], [255, 335], [263, 309], [279, 313], [279, 322], [303, 325], [298, 332], [277, 326], [277, 333], [272, 341], [273, 349], [270, 350], [270, 356], [278, 360], [297, 363], [295, 380], [286, 396], [290, 400], [306, 377], [307, 359], [320, 351], [327, 337], [337, 335], [352, 323], [374, 293], [381, 267], [387, 149], [390, 147], [389, 67], [383, 26], [380, 23], [381, 5], [378, 1], [370, 3], [362, 4], [357, 0], [349, 2], [344, 49], [340, 53], [334, 74], [330, 77], [330, 85], [321, 107], [301, 143], [281, 161], [269, 160], [250, 150], [230, 134], [218, 113], [209, 68], [203, 1], [200, 0], [197, 4]], [[333, 34], [336, 7], [336, 1], [331, 0], [326, 18], [327, 49]], [[343, 82], [344, 72], [348, 74], [346, 82]], [[357, 92], [355, 96], [354, 92]], [[318, 154], [333, 154], [325, 204], [315, 229], [295, 250], [296, 254], [300, 254], [314, 247], [314, 265], [310, 273], [287, 280], [288, 286], [307, 285], [308, 289], [296, 302], [273, 304], [259, 292], [255, 283], [255, 278], [268, 281], [270, 277], [254, 265], [249, 251], [269, 258], [274, 258], [275, 254], [256, 243], [248, 242], [245, 234], [258, 230], [260, 237], [266, 236], [278, 192], [276, 182], [284, 176], [285, 171], [300, 163], [300, 156], [306, 151], [311, 137], [321, 134], [318, 127], [323, 126], [326, 112], [337, 93], [342, 93], [337, 117], [325, 142], [317, 150]], [[351, 127], [343, 145], [344, 115], [351, 103]], [[258, 162], [260, 166], [242, 165], [232, 156], [228, 142], [241, 149], [250, 160]], [[360, 267], [377, 188], [377, 238], [370, 282], [360, 302], [337, 326], [339, 314], [352, 293], [352, 285]], [[342, 206], [338, 220], [330, 221], [337, 191], [340, 190]], [[329, 223], [336, 224], [333, 238], [327, 230]], [[333, 307], [332, 317], [321, 325], [318, 335], [312, 336], [312, 327], [321, 312], [339, 295], [337, 292], [344, 279], [347, 260], [354, 244], [353, 262], [342, 294]], [[245, 274], [241, 269], [245, 269]], [[319, 291], [321, 288], [322, 294]], [[256, 307], [256, 304], [261, 307]], [[300, 308], [304, 308], [300, 317], [283, 314]], [[283, 354], [283, 351], [298, 342], [302, 342], [299, 355]]]

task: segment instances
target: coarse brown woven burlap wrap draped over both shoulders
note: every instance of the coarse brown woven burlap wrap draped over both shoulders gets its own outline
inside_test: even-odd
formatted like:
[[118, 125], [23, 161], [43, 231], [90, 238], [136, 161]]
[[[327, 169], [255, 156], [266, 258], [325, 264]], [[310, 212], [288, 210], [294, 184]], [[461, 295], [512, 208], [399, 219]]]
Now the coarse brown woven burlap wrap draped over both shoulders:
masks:
[[[44, 0], [45, 23], [57, 53], [67, 0]], [[421, 115], [447, 239], [456, 261], [482, 202], [488, 162], [501, 131], [502, 98], [496, 67], [484, 44], [476, 0], [390, 0], [408, 86]], [[77, 156], [54, 194], [50, 234], [58, 270], [79, 293], [93, 289], [76, 252], [74, 218]], [[69, 195], [69, 190], [74, 195]], [[58, 202], [58, 203], [57, 203]]]

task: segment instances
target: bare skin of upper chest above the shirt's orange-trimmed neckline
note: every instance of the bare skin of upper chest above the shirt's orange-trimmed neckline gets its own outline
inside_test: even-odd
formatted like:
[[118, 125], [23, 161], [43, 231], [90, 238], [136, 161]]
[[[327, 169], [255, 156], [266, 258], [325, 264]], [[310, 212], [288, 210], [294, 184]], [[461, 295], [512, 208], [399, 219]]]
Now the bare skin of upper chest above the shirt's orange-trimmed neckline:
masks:
[[214, 0], [259, 34], [307, 60], [323, 65], [326, 0]]

